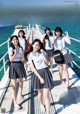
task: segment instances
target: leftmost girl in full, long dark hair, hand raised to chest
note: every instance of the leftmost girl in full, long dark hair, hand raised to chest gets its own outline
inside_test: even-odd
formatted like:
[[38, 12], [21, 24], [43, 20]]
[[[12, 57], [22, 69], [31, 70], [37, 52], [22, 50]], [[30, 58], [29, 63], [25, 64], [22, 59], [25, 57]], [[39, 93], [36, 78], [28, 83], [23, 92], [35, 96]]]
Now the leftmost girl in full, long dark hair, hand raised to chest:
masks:
[[26, 77], [26, 72], [24, 69], [24, 65], [22, 60], [24, 60], [23, 49], [19, 44], [18, 37], [16, 35], [11, 36], [10, 38], [11, 46], [9, 48], [9, 60], [10, 60], [10, 68], [9, 68], [9, 78], [11, 79], [12, 83], [12, 95], [14, 101], [14, 107], [19, 108], [19, 105], [16, 101], [16, 83], [17, 79], [19, 79], [20, 85], [20, 98], [22, 96], [22, 89], [23, 89], [23, 77]]

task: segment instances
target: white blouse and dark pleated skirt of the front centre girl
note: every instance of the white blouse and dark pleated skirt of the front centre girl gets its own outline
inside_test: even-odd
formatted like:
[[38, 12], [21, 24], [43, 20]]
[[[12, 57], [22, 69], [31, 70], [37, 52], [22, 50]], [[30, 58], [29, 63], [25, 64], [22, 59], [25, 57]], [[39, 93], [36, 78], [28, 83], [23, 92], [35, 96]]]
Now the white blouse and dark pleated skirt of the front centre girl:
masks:
[[[47, 54], [46, 54], [47, 56]], [[41, 52], [31, 52], [29, 55], [29, 63], [32, 63], [33, 60], [33, 64], [34, 67], [36, 68], [36, 70], [38, 71], [38, 73], [40, 74], [40, 76], [45, 80], [45, 84], [41, 84], [39, 78], [35, 75], [35, 73], [33, 73], [32, 75], [32, 87], [34, 89], [41, 89], [41, 88], [49, 88], [52, 89], [53, 88], [53, 80], [52, 80], [52, 75], [51, 72], [48, 69], [47, 64], [45, 63], [44, 59], [43, 59], [43, 55]]]

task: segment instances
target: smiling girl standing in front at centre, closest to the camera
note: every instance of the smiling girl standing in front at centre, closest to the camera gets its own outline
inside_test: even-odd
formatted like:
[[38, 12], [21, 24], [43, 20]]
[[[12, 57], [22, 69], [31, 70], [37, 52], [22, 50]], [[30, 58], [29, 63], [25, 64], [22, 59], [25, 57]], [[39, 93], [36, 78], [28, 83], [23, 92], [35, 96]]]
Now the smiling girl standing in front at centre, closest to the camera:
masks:
[[[32, 87], [38, 89], [38, 99], [42, 112], [50, 114], [50, 99], [49, 90], [53, 87], [53, 80], [51, 73], [48, 69], [46, 52], [42, 49], [42, 43], [39, 39], [32, 42], [32, 51], [29, 55], [30, 66], [34, 72], [32, 76]], [[43, 104], [43, 97], [45, 106]]]

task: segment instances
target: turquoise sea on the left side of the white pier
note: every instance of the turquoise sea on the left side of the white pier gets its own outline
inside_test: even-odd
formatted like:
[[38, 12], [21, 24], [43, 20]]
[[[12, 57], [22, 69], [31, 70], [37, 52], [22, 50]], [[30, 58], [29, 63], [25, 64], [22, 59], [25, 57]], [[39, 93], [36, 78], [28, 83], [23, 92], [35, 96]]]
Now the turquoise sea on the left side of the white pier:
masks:
[[[10, 35], [13, 33], [13, 30], [14, 26], [0, 27], [0, 44], [5, 42], [10, 37]], [[0, 47], [0, 59], [6, 53], [7, 50], [8, 50], [7, 44]], [[0, 62], [0, 68], [1, 67], [2, 67], [2, 61]], [[2, 77], [3, 77], [3, 70], [0, 72], [0, 80]]]

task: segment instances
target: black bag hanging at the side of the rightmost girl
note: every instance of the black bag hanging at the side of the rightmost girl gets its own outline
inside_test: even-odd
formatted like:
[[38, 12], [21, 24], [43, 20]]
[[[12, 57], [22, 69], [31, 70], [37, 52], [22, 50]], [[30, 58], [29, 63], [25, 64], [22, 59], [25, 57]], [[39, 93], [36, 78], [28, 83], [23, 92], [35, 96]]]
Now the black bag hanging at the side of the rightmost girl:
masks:
[[64, 63], [64, 56], [60, 50], [55, 50], [53, 56], [56, 63], [58, 64]]

